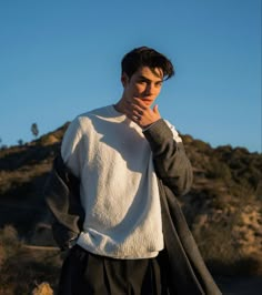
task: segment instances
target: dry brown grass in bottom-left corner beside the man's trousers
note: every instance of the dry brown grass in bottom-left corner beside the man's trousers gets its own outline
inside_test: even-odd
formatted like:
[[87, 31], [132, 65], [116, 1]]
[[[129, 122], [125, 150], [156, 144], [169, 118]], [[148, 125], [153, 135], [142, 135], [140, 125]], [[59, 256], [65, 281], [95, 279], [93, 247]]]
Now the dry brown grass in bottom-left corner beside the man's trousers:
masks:
[[61, 267], [58, 251], [24, 247], [10, 225], [0, 231], [0, 295], [51, 295], [56, 291]]

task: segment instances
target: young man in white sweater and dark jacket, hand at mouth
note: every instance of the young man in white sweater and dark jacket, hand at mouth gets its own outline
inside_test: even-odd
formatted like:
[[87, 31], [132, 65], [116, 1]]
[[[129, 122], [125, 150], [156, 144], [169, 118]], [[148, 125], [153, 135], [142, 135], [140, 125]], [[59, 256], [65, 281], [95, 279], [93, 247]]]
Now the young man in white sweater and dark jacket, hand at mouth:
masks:
[[221, 294], [175, 200], [192, 183], [182, 140], [152, 106], [173, 74], [137, 48], [120, 100], [69, 125], [46, 190], [54, 237], [71, 247], [59, 294]]

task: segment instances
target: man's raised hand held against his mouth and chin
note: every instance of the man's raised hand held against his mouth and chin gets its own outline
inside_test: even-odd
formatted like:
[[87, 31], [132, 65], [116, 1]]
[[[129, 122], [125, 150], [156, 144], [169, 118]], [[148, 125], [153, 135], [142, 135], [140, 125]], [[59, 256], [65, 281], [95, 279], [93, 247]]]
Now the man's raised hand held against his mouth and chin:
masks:
[[124, 102], [123, 111], [130, 120], [143, 129], [161, 119], [158, 105], [154, 105], [152, 110], [142, 99], [138, 98]]

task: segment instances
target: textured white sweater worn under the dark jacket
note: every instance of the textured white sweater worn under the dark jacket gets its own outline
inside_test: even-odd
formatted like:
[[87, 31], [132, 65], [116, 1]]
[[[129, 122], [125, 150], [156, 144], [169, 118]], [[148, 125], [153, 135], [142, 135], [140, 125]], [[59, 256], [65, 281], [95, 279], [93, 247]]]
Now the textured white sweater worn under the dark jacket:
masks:
[[154, 257], [163, 248], [152, 152], [141, 128], [112, 105], [75, 118], [61, 146], [80, 177], [85, 211], [77, 243], [115, 258]]

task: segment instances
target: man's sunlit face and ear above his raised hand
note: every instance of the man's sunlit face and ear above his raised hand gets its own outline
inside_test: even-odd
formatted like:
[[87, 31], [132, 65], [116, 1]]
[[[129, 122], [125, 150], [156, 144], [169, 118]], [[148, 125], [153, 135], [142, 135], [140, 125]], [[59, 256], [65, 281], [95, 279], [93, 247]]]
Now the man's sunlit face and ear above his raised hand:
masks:
[[125, 100], [132, 101], [133, 98], [138, 98], [150, 106], [160, 93], [163, 72], [159, 68], [142, 67], [131, 78], [123, 73], [121, 81]]

